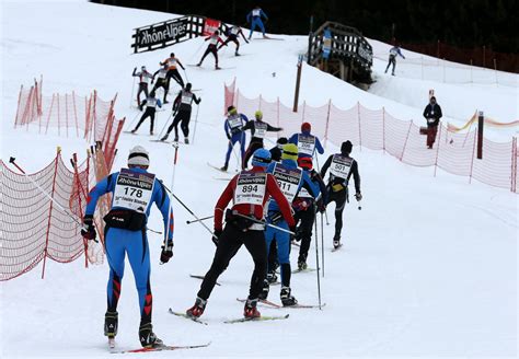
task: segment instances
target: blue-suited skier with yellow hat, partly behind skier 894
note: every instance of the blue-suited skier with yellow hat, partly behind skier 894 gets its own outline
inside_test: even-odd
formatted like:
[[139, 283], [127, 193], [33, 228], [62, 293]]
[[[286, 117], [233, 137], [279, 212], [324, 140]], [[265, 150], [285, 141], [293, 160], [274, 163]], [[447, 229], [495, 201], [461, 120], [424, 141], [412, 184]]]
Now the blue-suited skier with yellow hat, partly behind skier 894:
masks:
[[[267, 167], [267, 173], [276, 177], [279, 188], [287, 200], [292, 205], [302, 187], [312, 196], [319, 195], [319, 185], [312, 182], [307, 172], [298, 167], [298, 147], [293, 143], [287, 143], [282, 147], [281, 163], [272, 162]], [[279, 206], [276, 201], [268, 205], [267, 222], [285, 230], [288, 230], [288, 223], [282, 219]], [[267, 253], [270, 251], [270, 243], [276, 239], [278, 260], [281, 267], [281, 303], [284, 306], [296, 305], [298, 301], [291, 296], [290, 289], [290, 234], [278, 229], [267, 227], [265, 230], [265, 240], [267, 242]], [[268, 280], [264, 280], [261, 299], [268, 296]]]

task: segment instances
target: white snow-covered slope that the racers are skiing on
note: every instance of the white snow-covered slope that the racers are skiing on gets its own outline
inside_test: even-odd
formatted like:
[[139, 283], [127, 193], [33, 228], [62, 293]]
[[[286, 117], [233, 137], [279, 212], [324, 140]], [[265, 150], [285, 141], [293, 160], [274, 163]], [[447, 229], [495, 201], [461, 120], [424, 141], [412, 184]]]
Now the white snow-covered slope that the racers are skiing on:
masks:
[[[47, 164], [58, 144], [68, 159], [72, 152], [84, 153], [88, 143], [13, 130], [21, 83], [43, 73], [44, 93], [74, 90], [84, 94], [96, 89], [102, 99], [111, 99], [117, 92], [116, 114], [131, 121], [137, 115], [128, 106], [132, 68], [146, 65], [154, 69], [171, 50], [185, 65], [196, 63], [204, 48], [201, 39], [194, 39], [131, 55], [131, 28], [171, 19], [165, 13], [77, 1], [2, 2], [1, 10], [1, 158], [14, 154], [28, 171]], [[278, 37], [284, 40], [253, 40], [243, 46], [244, 56], [239, 58], [232, 56], [232, 46], [223, 50], [221, 66], [230, 69], [212, 71], [210, 58], [204, 69], [187, 68], [194, 88], [203, 89], [203, 102], [195, 144], [180, 149], [174, 190], [199, 216], [212, 213], [226, 186], [224, 181], [215, 181], [222, 174], [206, 165], [223, 161], [223, 82], [237, 77], [241, 91], [251, 97], [261, 93], [267, 100], [291, 101], [297, 55], [307, 44], [303, 36]], [[342, 108], [359, 101], [371, 108], [385, 106], [401, 118], [419, 119], [432, 85], [448, 91], [440, 96], [437, 90], [437, 95], [449, 117], [469, 117], [491, 93], [485, 108], [493, 108], [498, 119], [514, 114], [508, 108], [510, 100], [517, 100], [514, 88], [491, 91], [390, 78], [383, 76], [382, 67], [376, 61], [379, 82], [366, 93], [305, 66], [301, 99], [321, 105], [332, 97]], [[453, 109], [458, 106], [459, 112]], [[517, 102], [515, 114], [506, 119], [517, 117]], [[160, 113], [159, 129], [166, 115]], [[146, 127], [141, 134], [147, 132]], [[115, 167], [125, 165], [126, 153], [135, 144], [150, 151], [150, 171], [170, 182], [172, 149], [149, 142], [145, 135], [123, 135]], [[336, 149], [328, 143], [326, 150], [321, 163]], [[333, 206], [327, 211], [331, 225], [324, 224], [326, 262], [321, 280], [326, 306], [323, 311], [262, 309], [264, 314], [290, 313], [287, 321], [222, 323], [242, 314], [242, 304], [234, 299], [246, 296], [252, 270], [244, 250], [220, 277], [222, 286], [212, 292], [204, 314], [208, 326], [168, 314], [170, 306], [182, 311], [193, 304], [200, 282], [188, 274], [204, 274], [214, 254], [208, 233], [200, 225], [185, 224], [192, 218], [174, 202], [175, 256], [169, 264], [159, 266], [161, 238], [149, 234], [154, 329], [168, 343], [212, 344], [152, 357], [515, 357], [517, 196], [477, 183], [468, 185], [466, 178], [441, 172], [435, 178], [431, 169], [410, 167], [367, 149], [355, 148], [354, 157], [359, 161], [365, 199], [362, 210], [355, 204], [347, 206], [346, 245], [333, 254]], [[155, 210], [150, 227], [161, 229]], [[310, 257], [315, 267], [313, 245]], [[39, 270], [41, 266], [1, 283], [0, 357], [106, 357], [102, 326], [107, 266], [84, 269], [81, 259], [68, 265], [48, 262], [45, 280], [39, 279]], [[295, 275], [292, 289], [301, 303], [316, 303], [315, 274]], [[278, 290], [272, 288], [272, 300], [279, 301]], [[123, 279], [118, 312], [118, 345], [138, 347], [139, 313], [130, 271]]]

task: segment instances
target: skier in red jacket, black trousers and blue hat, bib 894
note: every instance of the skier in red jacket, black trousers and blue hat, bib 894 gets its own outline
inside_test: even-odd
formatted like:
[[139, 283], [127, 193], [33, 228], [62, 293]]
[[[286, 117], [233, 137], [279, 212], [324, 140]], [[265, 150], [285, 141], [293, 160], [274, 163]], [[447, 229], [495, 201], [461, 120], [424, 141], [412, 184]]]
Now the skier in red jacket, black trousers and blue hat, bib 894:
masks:
[[[254, 273], [243, 315], [245, 317], [261, 316], [256, 304], [267, 271], [265, 224], [240, 217], [238, 213], [263, 221], [264, 206], [272, 196], [288, 225], [291, 229], [295, 227], [290, 205], [279, 189], [276, 178], [265, 173], [268, 163], [270, 163], [268, 150], [260, 149], [254, 152], [252, 170], [237, 174], [218, 199], [215, 207], [215, 236], [212, 238], [217, 244], [215, 258], [204, 277], [195, 304], [186, 311], [187, 315], [198, 317], [204, 313], [218, 277], [227, 268], [240, 246], [244, 244], [254, 260]], [[226, 227], [222, 230], [223, 211], [231, 200], [233, 200], [233, 206], [226, 211]]]

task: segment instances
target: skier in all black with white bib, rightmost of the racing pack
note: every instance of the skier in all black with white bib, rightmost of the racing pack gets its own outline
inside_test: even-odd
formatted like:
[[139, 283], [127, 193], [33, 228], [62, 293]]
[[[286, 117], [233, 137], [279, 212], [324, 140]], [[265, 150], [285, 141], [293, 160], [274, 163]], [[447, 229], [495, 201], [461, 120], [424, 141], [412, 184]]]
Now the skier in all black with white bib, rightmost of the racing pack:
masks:
[[343, 210], [348, 200], [349, 177], [354, 175], [355, 198], [357, 201], [362, 199], [360, 194], [360, 176], [358, 164], [355, 159], [349, 157], [353, 144], [350, 141], [343, 142], [341, 153], [332, 154], [321, 169], [321, 177], [324, 178], [330, 167], [330, 178], [327, 188], [327, 204], [335, 201], [335, 235], [333, 238], [334, 248], [341, 246], [341, 231], [343, 229]]

